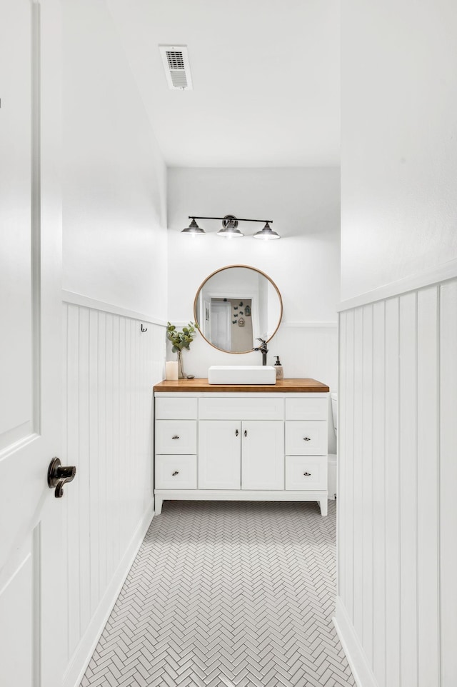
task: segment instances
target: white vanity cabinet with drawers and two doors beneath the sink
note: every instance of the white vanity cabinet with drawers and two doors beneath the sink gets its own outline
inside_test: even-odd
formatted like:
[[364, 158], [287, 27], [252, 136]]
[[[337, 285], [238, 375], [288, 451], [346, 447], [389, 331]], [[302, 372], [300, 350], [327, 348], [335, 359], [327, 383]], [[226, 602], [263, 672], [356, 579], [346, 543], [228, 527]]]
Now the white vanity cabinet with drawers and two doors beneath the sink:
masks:
[[325, 516], [328, 393], [205, 391], [196, 381], [154, 387], [156, 514], [167, 499], [190, 499], [318, 501]]

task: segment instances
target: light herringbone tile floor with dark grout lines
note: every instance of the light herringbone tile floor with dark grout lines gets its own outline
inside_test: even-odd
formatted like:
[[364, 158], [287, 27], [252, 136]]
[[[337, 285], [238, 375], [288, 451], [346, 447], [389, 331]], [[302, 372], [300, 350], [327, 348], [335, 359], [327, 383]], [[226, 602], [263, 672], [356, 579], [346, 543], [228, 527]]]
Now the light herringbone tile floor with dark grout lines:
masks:
[[335, 502], [169, 501], [81, 687], [347, 687]]

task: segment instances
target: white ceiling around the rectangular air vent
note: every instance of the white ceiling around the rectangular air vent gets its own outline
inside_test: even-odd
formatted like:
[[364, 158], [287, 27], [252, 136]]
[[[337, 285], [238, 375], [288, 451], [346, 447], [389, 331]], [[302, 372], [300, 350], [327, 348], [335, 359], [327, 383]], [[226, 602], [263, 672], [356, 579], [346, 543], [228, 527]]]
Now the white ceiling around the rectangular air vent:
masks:
[[[339, 164], [339, 0], [108, 0], [168, 166]], [[187, 45], [193, 91], [159, 44]]]

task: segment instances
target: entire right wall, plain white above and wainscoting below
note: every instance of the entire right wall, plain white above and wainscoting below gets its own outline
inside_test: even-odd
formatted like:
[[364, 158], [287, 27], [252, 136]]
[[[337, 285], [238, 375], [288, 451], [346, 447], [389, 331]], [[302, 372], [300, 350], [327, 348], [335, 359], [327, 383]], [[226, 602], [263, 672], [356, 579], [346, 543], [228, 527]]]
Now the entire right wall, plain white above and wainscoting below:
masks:
[[343, 5], [336, 623], [359, 687], [457, 684], [456, 30], [447, 0]]

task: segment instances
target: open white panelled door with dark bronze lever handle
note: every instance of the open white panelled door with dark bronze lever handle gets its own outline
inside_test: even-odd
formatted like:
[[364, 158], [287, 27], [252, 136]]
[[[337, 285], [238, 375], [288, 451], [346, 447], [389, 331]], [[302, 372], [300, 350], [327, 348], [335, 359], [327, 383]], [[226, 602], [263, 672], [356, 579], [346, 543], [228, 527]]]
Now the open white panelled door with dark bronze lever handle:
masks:
[[0, 685], [60, 687], [59, 3], [0, 11]]

